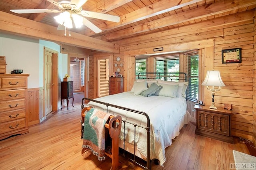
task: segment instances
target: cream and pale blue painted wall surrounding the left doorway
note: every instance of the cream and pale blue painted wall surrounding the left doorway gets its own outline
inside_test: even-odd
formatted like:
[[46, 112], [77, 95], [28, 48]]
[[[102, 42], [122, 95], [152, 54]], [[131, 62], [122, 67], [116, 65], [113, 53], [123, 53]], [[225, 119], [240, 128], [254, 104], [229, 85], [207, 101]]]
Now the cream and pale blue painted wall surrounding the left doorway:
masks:
[[28, 89], [44, 86], [44, 47], [58, 51], [59, 83], [68, 73], [68, 55], [60, 53], [60, 45], [22, 36], [0, 33], [0, 55], [6, 57], [6, 73], [23, 69], [28, 77]]

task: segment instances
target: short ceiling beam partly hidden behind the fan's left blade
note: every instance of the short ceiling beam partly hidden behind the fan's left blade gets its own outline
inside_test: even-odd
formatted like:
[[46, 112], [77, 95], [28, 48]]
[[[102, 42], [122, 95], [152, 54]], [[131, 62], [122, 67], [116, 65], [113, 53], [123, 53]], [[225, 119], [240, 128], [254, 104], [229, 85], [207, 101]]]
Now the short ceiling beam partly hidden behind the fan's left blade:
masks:
[[[36, 9], [56, 9], [56, 6], [47, 0], [43, 0], [42, 3]], [[47, 13], [33, 13], [30, 15], [29, 19], [34, 21], [41, 21]]]

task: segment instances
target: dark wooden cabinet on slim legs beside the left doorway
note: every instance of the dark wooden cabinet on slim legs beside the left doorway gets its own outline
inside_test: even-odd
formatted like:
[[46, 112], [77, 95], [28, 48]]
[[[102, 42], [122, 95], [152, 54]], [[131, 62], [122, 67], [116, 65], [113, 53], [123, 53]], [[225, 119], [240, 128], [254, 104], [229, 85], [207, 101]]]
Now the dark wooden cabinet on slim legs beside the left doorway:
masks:
[[73, 99], [72, 106], [74, 107], [74, 95], [73, 95], [73, 81], [62, 81], [61, 82], [61, 109], [62, 109], [62, 100], [67, 100], [67, 107], [69, 99]]

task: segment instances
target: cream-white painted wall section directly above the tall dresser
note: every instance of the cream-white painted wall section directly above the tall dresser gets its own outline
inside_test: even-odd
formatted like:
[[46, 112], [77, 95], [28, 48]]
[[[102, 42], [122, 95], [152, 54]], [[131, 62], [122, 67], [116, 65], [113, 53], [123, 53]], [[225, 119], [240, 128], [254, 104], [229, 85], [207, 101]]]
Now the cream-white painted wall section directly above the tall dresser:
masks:
[[0, 55], [6, 59], [6, 73], [23, 69], [30, 74], [28, 88], [39, 86], [39, 40], [0, 33]]

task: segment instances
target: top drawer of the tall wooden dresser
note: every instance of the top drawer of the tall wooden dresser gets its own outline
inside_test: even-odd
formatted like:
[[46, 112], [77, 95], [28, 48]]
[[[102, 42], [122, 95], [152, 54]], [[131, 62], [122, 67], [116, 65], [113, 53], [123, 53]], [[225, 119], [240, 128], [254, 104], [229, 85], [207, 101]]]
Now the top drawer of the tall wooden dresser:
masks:
[[26, 77], [1, 77], [2, 89], [21, 89], [27, 87]]

